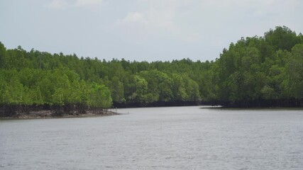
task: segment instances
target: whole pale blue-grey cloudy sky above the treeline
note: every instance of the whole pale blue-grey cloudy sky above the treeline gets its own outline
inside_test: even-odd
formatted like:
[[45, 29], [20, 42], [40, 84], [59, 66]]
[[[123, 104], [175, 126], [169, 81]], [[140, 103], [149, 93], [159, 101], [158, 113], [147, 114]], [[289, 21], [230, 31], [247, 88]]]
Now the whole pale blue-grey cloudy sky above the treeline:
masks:
[[276, 26], [303, 33], [302, 0], [0, 0], [7, 49], [99, 60], [216, 60]]

